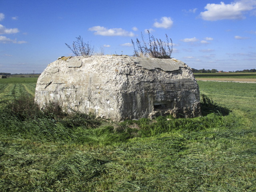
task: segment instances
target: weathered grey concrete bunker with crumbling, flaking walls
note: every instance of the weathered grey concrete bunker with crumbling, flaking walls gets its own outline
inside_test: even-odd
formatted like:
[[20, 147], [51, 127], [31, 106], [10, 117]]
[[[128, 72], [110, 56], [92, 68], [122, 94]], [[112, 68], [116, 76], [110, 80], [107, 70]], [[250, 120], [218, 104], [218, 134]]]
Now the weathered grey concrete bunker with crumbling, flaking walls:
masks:
[[198, 84], [191, 69], [176, 59], [62, 57], [38, 78], [35, 100], [41, 107], [58, 101], [112, 120], [200, 114]]

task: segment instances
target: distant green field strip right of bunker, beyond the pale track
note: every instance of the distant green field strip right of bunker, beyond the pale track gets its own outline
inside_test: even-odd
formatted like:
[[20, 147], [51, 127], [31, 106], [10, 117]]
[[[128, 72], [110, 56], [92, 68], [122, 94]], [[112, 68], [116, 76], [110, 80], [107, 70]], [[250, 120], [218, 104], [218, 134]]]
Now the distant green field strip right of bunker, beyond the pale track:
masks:
[[196, 78], [256, 78], [256, 73], [194, 73]]

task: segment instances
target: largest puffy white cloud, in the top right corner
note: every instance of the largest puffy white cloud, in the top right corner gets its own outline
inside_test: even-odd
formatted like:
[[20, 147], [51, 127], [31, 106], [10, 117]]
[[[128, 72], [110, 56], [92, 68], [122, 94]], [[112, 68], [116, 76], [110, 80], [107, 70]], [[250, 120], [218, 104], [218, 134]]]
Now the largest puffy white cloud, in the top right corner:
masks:
[[222, 19], [244, 19], [244, 12], [253, 10], [256, 6], [255, 0], [240, 0], [225, 4], [207, 4], [200, 16], [203, 20], [216, 21]]

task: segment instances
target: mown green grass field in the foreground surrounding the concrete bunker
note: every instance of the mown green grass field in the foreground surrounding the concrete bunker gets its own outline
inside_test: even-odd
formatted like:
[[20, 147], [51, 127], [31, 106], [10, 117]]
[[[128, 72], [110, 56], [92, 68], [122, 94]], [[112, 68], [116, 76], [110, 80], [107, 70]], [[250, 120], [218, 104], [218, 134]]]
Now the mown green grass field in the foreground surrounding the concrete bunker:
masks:
[[33, 114], [14, 113], [7, 100], [28, 92], [21, 101], [29, 104], [36, 81], [0, 79], [0, 191], [256, 191], [256, 84], [198, 84], [221, 107], [114, 123], [30, 105]]

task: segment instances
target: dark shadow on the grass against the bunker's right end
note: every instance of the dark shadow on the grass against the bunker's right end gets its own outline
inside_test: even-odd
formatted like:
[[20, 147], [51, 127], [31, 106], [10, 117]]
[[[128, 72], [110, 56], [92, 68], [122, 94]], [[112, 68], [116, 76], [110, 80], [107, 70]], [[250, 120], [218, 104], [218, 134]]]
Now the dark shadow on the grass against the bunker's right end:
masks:
[[228, 115], [231, 110], [216, 104], [212, 98], [201, 94], [201, 112], [202, 116], [206, 116], [210, 113], [220, 114], [222, 116]]

